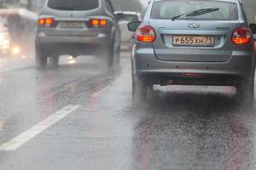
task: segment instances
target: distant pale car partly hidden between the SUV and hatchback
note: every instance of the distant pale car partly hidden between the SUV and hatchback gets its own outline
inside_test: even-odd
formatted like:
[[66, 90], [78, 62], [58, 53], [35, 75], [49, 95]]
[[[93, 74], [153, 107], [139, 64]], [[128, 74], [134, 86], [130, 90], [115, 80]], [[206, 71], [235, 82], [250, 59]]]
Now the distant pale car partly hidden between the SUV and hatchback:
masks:
[[116, 19], [119, 21], [121, 30], [121, 42], [128, 42], [131, 44], [131, 40], [134, 37], [134, 33], [128, 30], [127, 24], [134, 21], [142, 21], [142, 14], [135, 11], [116, 11]]

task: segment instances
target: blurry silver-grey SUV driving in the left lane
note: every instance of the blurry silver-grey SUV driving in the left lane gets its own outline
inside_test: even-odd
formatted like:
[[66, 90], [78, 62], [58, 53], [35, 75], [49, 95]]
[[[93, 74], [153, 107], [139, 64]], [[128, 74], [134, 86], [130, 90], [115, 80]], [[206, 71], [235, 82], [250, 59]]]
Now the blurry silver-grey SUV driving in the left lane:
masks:
[[109, 0], [46, 0], [36, 33], [37, 64], [56, 66], [62, 54], [92, 54], [111, 68], [119, 63], [119, 38]]

